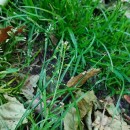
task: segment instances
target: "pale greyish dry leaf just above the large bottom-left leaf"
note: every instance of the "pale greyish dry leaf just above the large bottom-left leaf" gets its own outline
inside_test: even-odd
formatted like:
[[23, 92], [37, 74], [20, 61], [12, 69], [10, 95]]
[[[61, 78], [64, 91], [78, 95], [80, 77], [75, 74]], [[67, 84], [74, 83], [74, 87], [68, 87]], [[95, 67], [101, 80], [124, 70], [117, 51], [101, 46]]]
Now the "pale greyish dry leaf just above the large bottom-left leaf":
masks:
[[27, 98], [27, 99], [33, 99], [33, 92], [34, 88], [37, 86], [37, 82], [39, 80], [39, 75], [31, 75], [27, 78], [25, 81], [21, 91], [22, 94]]

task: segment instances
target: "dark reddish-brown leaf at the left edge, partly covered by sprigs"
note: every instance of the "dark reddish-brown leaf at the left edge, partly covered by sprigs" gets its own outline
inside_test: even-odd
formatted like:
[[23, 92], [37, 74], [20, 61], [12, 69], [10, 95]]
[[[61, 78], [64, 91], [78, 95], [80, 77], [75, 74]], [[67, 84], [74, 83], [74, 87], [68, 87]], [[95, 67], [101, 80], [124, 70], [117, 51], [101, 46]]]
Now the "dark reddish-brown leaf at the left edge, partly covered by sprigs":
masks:
[[[17, 35], [18, 33], [22, 33], [24, 28], [25, 28], [25, 26], [22, 26], [21, 28], [18, 28], [16, 30], [16, 32], [14, 33], [14, 35]], [[0, 43], [6, 41], [9, 38], [8, 32], [9, 31], [12, 32], [12, 29], [13, 29], [12, 26], [8, 26], [6, 28], [0, 29]]]

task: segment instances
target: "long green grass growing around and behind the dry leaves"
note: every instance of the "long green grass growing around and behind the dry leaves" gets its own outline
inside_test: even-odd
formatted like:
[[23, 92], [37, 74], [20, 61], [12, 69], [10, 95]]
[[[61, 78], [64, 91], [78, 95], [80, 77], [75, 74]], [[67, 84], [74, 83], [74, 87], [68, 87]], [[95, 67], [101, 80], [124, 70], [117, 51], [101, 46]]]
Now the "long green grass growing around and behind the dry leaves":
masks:
[[[26, 68], [29, 74], [31, 64], [39, 55], [42, 57], [36, 97], [40, 95], [44, 110], [41, 109], [38, 119], [34, 118], [30, 105], [24, 115], [32, 130], [50, 126], [52, 130], [63, 129], [64, 115], [77, 102], [73, 95], [75, 89], [66, 88], [65, 79], [89, 68], [101, 68], [102, 72], [95, 83], [88, 81], [87, 90], [120, 95], [117, 106], [122, 95], [129, 94], [130, 20], [121, 7], [120, 2], [111, 9], [91, 0], [17, 0], [3, 7], [1, 26], [26, 26], [26, 32], [1, 44], [0, 95], [18, 95], [25, 80], [19, 80], [20, 74], [25, 73]], [[58, 43], [53, 44], [51, 35], [55, 35]], [[52, 84], [53, 90], [49, 88]], [[60, 107], [60, 102], [66, 101], [68, 95], [73, 103]], [[54, 104], [58, 104], [55, 110]]]

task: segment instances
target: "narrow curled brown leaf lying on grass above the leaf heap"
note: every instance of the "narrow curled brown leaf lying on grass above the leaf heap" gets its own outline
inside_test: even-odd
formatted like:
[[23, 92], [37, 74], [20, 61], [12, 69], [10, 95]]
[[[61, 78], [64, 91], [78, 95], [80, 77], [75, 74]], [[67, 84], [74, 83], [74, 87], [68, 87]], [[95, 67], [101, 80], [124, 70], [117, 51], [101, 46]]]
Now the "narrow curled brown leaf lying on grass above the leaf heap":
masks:
[[67, 82], [67, 86], [68, 87], [72, 87], [72, 86], [77, 86], [80, 87], [82, 86], [89, 78], [93, 77], [94, 75], [96, 75], [97, 73], [100, 72], [100, 69], [95, 69], [92, 68], [88, 71], [84, 71], [82, 73], [80, 73], [79, 75], [72, 77], [68, 82]]

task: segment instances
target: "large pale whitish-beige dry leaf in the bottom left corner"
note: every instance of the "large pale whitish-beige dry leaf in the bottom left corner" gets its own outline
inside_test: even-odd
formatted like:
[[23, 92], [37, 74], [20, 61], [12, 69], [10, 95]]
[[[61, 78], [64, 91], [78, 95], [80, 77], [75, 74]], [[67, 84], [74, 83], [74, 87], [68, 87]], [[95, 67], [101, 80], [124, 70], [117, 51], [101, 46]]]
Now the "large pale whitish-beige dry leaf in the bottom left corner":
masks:
[[[0, 130], [15, 130], [26, 109], [15, 97], [7, 95], [4, 97], [8, 102], [0, 106]], [[25, 123], [27, 123], [26, 118], [22, 124]]]

